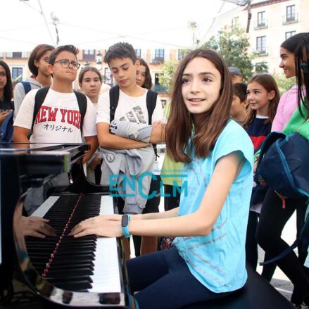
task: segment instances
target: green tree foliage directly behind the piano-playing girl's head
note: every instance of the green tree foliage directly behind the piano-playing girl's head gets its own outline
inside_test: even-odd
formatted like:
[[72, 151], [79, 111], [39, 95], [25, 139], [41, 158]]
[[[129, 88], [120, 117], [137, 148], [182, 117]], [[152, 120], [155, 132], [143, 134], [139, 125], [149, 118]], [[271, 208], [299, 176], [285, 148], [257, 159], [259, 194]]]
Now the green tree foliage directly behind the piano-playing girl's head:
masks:
[[252, 59], [255, 55], [248, 52], [249, 46], [248, 34], [239, 27], [225, 27], [203, 44], [203, 48], [220, 53], [228, 66], [239, 68], [245, 81], [251, 78], [254, 68]]

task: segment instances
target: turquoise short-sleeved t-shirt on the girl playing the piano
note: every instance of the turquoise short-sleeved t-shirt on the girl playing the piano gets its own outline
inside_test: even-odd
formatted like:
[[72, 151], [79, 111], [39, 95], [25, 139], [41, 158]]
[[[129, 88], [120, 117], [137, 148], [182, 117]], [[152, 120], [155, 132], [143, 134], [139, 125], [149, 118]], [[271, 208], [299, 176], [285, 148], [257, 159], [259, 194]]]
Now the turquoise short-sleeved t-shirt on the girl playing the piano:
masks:
[[182, 191], [178, 215], [187, 215], [200, 206], [217, 160], [234, 151], [243, 154], [245, 163], [210, 234], [177, 237], [174, 241], [192, 275], [216, 293], [240, 289], [247, 279], [245, 241], [253, 184], [252, 141], [237, 122], [229, 120], [209, 156], [193, 158], [182, 170], [182, 175], [187, 175], [187, 191]]

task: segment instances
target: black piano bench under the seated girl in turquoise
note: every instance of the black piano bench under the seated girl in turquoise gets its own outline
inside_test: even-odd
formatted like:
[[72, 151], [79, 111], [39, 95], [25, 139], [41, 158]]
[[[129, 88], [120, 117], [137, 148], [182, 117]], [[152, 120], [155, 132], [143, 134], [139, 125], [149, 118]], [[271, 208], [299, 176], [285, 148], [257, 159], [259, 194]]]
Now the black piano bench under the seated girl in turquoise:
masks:
[[248, 279], [239, 291], [213, 301], [194, 303], [186, 309], [292, 309], [295, 307], [270, 283], [247, 265]]

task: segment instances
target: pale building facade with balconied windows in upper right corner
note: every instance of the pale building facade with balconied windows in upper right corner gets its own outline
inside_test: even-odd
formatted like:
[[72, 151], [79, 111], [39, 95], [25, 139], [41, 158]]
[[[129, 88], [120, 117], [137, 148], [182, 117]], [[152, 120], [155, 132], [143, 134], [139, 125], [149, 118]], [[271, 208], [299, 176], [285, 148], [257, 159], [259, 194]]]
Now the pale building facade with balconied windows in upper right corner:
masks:
[[[309, 32], [308, 0], [251, 1], [251, 24], [248, 32], [250, 51], [257, 54], [253, 64], [267, 63], [268, 72], [279, 72], [279, 49], [285, 39], [300, 32]], [[224, 16], [222, 16], [224, 18]], [[239, 10], [227, 25], [244, 27], [248, 23], [247, 8]]]

